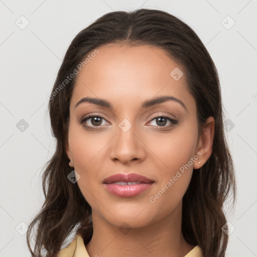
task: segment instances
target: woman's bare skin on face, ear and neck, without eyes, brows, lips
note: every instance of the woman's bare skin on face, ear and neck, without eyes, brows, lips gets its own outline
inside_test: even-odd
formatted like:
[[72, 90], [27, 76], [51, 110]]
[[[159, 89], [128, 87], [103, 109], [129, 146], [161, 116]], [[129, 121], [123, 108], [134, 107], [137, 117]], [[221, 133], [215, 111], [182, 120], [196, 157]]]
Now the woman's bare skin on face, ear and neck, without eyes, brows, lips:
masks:
[[[198, 137], [196, 102], [189, 93], [186, 77], [176, 81], [170, 76], [175, 67], [182, 71], [183, 68], [164, 50], [118, 44], [98, 50], [77, 75], [66, 143], [71, 166], [80, 175], [78, 186], [92, 207], [94, 232], [85, 245], [88, 254], [182, 257], [195, 246], [187, 243], [181, 232], [182, 198], [193, 169], [199, 169], [211, 155], [214, 118], [207, 119]], [[143, 101], [162, 95], [180, 99], [187, 110], [171, 100], [141, 108]], [[83, 97], [103, 98], [113, 109], [89, 102], [75, 107]], [[102, 123], [94, 123], [93, 118], [84, 121], [96, 130], [87, 131], [80, 123], [88, 114], [103, 117]], [[166, 124], [165, 120], [160, 123], [157, 115], [168, 115], [178, 123], [170, 126], [168, 119]], [[124, 118], [132, 125], [127, 132], [118, 126]], [[151, 203], [150, 197], [198, 152], [201, 157], [197, 161], [201, 163], [193, 162]], [[106, 177], [117, 173], [137, 173], [155, 183], [138, 196], [118, 197], [102, 184]], [[129, 226], [125, 232], [121, 229], [124, 222]]]

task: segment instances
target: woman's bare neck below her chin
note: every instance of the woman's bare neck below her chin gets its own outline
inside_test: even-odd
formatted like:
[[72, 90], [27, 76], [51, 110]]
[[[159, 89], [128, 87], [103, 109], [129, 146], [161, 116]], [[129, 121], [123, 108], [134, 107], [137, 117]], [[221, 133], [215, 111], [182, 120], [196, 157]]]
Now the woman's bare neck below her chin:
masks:
[[174, 211], [145, 227], [121, 228], [92, 213], [94, 230], [90, 242], [85, 245], [87, 252], [100, 257], [183, 257], [194, 245], [187, 243], [182, 235], [181, 216]]

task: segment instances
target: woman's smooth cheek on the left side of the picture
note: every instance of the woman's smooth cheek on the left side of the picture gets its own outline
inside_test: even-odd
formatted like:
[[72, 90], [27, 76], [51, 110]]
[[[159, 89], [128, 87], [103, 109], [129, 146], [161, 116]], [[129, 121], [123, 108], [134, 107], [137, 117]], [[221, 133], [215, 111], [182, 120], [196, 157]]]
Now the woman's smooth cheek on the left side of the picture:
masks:
[[74, 170], [80, 175], [79, 189], [89, 203], [95, 207], [96, 199], [101, 199], [99, 185], [103, 161], [108, 158], [105, 147], [113, 136], [102, 133], [88, 133], [82, 125], [73, 121], [69, 127], [69, 148]]

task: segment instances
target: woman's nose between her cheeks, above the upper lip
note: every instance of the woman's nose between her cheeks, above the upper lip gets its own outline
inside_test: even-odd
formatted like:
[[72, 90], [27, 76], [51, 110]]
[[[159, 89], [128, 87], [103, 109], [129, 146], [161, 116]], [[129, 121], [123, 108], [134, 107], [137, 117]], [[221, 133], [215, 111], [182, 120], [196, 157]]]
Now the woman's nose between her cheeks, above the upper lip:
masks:
[[126, 132], [117, 126], [117, 135], [112, 140], [109, 156], [112, 161], [122, 164], [142, 162], [146, 158], [146, 145], [136, 126], [133, 125]]

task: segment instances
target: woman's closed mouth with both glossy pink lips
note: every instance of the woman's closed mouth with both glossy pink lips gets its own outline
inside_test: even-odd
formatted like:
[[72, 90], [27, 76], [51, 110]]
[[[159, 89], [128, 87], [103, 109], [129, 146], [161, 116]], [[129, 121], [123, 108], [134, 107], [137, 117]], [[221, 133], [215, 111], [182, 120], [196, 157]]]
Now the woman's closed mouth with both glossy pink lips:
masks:
[[154, 183], [154, 180], [135, 173], [119, 173], [104, 179], [103, 186], [115, 196], [134, 197], [150, 189]]

